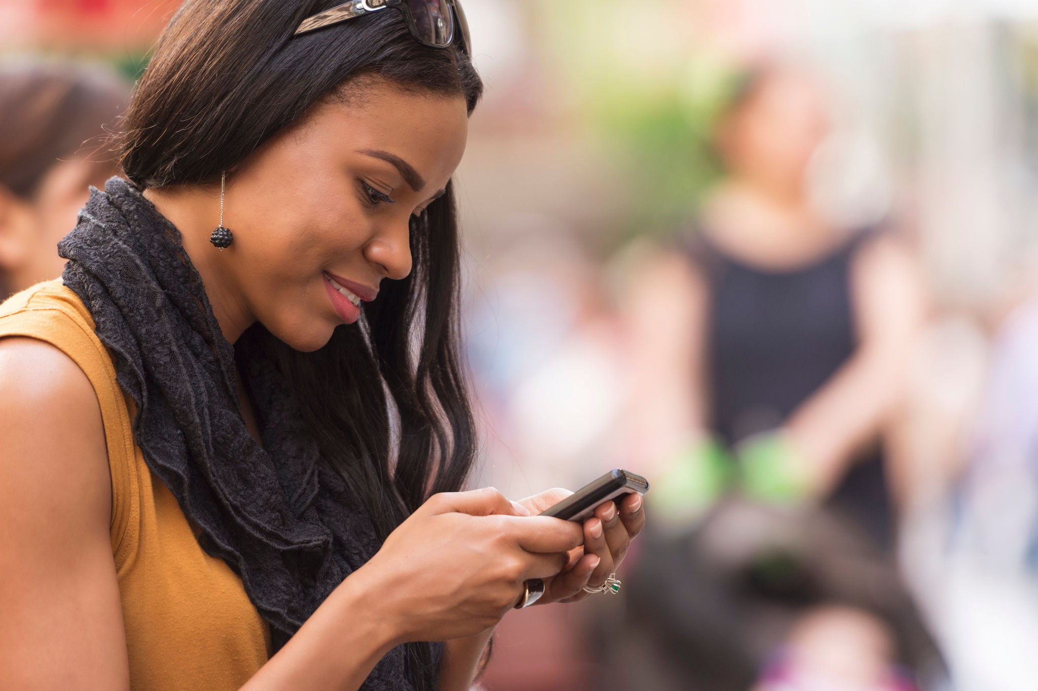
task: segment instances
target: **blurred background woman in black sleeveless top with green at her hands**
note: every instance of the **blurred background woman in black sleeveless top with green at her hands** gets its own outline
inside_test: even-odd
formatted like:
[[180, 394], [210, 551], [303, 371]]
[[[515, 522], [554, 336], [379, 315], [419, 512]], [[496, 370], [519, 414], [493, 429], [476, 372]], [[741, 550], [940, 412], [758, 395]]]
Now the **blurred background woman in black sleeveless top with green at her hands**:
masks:
[[[674, 532], [643, 545], [628, 615], [671, 641], [682, 671], [659, 688], [744, 691], [777, 651], [810, 661], [805, 641], [827, 636], [884, 639], [883, 650], [910, 649], [913, 662], [932, 652], [889, 559], [895, 501], [881, 444], [924, 296], [894, 237], [840, 228], [817, 209], [808, 171], [828, 131], [812, 75], [783, 63], [747, 74], [718, 118], [727, 175], [693, 236], [632, 281], [629, 445], [656, 467], [650, 511]], [[777, 513], [747, 519], [755, 503]], [[802, 542], [797, 535], [822, 520], [816, 505], [839, 528]], [[851, 598], [861, 571], [817, 572], [815, 552], [838, 543], [885, 564], [897, 607], [878, 594]], [[745, 553], [727, 556], [733, 550]], [[790, 599], [790, 583], [812, 587]], [[855, 614], [811, 614], [841, 603]], [[898, 610], [909, 621], [894, 640], [883, 617]], [[811, 626], [797, 625], [805, 614]], [[848, 670], [894, 679], [876, 671], [891, 656], [861, 656]]]

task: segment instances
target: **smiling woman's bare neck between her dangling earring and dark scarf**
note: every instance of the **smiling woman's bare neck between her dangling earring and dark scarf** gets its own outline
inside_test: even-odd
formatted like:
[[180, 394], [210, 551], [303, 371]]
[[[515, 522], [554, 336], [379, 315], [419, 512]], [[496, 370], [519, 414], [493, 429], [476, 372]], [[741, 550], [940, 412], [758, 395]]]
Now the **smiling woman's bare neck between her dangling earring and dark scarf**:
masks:
[[144, 197], [181, 231], [184, 250], [201, 276], [223, 338], [237, 342], [255, 317], [233, 270], [230, 253], [220, 252], [209, 241], [220, 219], [219, 191], [214, 194], [206, 188], [162, 188], [145, 190]]

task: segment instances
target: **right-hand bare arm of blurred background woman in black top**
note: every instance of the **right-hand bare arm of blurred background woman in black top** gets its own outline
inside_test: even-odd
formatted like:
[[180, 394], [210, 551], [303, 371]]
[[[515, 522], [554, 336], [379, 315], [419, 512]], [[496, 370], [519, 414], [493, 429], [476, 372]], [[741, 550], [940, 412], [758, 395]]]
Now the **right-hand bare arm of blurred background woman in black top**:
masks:
[[926, 312], [911, 255], [890, 237], [855, 257], [851, 289], [859, 345], [784, 430], [809, 464], [818, 495], [839, 483], [854, 452], [876, 437], [899, 401]]

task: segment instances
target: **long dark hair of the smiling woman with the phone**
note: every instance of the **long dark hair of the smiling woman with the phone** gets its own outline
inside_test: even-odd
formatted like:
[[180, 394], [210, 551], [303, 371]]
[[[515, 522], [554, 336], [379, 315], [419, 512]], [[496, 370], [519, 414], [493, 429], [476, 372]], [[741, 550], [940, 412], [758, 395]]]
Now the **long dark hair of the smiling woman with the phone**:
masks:
[[[380, 76], [463, 95], [483, 84], [456, 50], [422, 46], [394, 10], [293, 38], [336, 0], [187, 0], [160, 38], [124, 122], [120, 155], [138, 188], [204, 184], [324, 98]], [[364, 317], [301, 353], [261, 324], [238, 356], [272, 356], [325, 459], [385, 538], [431, 494], [461, 489], [475, 456], [459, 355], [459, 238], [453, 185], [412, 221], [413, 270], [385, 282]], [[427, 646], [426, 646], [427, 647]], [[428, 647], [414, 655], [428, 661]], [[419, 660], [420, 661], [420, 660]], [[427, 680], [428, 683], [432, 683]]]

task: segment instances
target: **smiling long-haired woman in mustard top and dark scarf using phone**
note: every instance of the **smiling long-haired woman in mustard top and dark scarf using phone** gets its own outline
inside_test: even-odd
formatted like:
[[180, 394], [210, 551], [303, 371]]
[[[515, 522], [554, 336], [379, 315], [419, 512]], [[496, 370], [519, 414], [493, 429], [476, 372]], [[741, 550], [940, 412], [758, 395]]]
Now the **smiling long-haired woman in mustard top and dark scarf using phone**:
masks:
[[130, 181], [63, 284], [0, 311], [16, 687], [468, 689], [536, 579], [579, 599], [641, 527], [633, 498], [581, 527], [528, 516], [564, 492], [458, 491], [450, 177], [482, 85], [455, 2], [333, 4], [188, 0]]

